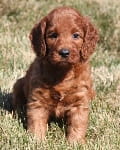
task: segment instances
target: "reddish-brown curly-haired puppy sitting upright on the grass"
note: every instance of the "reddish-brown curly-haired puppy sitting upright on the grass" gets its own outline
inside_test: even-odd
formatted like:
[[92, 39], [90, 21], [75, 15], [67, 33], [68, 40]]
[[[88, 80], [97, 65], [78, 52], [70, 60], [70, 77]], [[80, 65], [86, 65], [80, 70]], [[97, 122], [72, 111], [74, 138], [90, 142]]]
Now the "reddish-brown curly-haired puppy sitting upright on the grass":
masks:
[[66, 117], [70, 143], [85, 141], [89, 103], [94, 96], [89, 56], [98, 33], [69, 7], [54, 9], [31, 33], [36, 58], [14, 85], [14, 110], [27, 108], [27, 128], [44, 139], [50, 116]]

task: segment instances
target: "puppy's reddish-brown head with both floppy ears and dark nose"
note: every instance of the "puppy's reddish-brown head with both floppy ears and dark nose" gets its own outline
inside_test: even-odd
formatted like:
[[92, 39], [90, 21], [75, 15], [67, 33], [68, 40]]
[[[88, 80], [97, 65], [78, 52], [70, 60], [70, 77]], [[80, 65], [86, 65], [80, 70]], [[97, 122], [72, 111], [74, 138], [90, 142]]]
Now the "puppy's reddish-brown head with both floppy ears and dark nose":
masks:
[[60, 7], [33, 27], [30, 39], [38, 57], [46, 57], [52, 64], [75, 64], [94, 52], [98, 34], [79, 12]]

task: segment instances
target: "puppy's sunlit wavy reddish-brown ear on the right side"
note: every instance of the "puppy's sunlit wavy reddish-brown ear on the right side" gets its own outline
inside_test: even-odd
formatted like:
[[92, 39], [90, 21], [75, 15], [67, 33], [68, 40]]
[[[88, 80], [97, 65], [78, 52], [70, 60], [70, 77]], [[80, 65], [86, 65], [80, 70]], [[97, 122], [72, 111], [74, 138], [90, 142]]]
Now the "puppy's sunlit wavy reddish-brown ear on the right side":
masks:
[[95, 27], [89, 22], [87, 18], [84, 18], [84, 43], [80, 51], [80, 55], [83, 61], [87, 60], [89, 56], [94, 52], [96, 43], [99, 39], [98, 32]]

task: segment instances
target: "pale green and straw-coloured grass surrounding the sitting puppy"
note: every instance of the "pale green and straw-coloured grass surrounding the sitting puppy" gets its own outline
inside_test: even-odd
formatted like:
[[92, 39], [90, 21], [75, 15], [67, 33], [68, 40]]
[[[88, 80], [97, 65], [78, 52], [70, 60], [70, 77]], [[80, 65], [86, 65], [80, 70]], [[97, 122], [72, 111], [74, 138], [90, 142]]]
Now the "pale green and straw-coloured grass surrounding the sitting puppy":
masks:
[[[100, 32], [91, 59], [96, 98], [91, 104], [87, 144], [70, 146], [64, 126], [51, 123], [39, 143], [12, 118], [10, 99], [16, 79], [34, 58], [28, 39], [39, 19], [56, 6], [72, 6], [89, 16]], [[0, 149], [118, 150], [120, 147], [120, 1], [118, 0], [0, 0]]]

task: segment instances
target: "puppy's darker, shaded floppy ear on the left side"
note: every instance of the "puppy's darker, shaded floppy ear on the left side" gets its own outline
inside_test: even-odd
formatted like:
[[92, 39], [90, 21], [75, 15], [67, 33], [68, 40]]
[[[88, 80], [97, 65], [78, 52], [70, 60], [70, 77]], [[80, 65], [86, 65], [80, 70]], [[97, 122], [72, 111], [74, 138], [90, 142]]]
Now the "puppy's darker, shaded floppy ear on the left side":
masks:
[[32, 48], [37, 56], [44, 57], [46, 53], [45, 45], [45, 28], [46, 17], [44, 17], [40, 23], [36, 24], [30, 32], [30, 41]]

